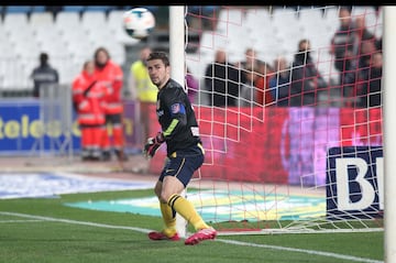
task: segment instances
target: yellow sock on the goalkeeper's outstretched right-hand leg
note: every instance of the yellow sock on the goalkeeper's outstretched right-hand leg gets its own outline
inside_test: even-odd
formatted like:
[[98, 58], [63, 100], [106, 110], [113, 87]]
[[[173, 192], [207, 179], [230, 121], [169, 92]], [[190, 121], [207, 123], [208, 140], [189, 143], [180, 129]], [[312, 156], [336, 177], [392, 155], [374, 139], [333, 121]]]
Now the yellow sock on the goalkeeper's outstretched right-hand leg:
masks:
[[189, 223], [191, 223], [196, 230], [209, 228], [209, 226], [206, 224], [202, 218], [198, 215], [193, 204], [188, 201], [186, 198], [175, 194], [170, 196], [167, 204], [169, 208], [173, 208], [176, 212], [178, 212], [182, 217], [184, 217]]

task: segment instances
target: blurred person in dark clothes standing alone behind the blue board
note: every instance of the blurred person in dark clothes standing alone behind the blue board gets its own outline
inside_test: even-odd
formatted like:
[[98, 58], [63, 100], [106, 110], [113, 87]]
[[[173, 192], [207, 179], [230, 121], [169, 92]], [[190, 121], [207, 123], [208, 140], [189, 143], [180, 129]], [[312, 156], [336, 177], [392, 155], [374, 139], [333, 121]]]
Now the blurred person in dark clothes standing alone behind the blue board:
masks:
[[58, 84], [59, 74], [57, 69], [52, 67], [48, 63], [50, 56], [47, 53], [40, 54], [40, 65], [35, 67], [31, 74], [33, 79], [33, 97], [40, 97], [40, 89], [43, 85]]

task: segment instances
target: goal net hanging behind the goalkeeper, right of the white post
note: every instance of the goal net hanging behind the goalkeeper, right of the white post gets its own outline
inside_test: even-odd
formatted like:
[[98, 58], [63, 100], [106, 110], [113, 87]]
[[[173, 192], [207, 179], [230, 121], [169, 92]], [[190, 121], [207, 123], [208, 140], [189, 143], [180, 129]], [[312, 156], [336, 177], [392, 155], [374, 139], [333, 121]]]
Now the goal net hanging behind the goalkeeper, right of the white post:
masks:
[[204, 219], [220, 234], [382, 230], [381, 7], [193, 6], [185, 20], [206, 149], [187, 198]]

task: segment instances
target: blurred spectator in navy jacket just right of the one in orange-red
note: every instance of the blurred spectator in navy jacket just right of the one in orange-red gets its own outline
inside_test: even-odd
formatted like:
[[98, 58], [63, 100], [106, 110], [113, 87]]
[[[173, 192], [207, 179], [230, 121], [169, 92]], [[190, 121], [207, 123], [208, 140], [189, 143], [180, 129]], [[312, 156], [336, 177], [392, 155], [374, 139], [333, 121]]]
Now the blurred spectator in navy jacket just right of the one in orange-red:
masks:
[[270, 78], [270, 90], [276, 106], [287, 107], [290, 99], [290, 67], [285, 57], [274, 62], [275, 74]]

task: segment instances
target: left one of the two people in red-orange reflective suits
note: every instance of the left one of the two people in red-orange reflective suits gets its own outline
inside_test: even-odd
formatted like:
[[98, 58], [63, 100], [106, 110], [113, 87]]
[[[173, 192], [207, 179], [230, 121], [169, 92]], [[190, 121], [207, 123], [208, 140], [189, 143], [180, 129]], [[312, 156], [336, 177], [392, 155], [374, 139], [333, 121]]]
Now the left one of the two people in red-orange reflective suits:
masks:
[[105, 127], [106, 88], [95, 78], [92, 61], [84, 63], [81, 73], [73, 80], [73, 103], [81, 130], [84, 161], [101, 158], [101, 139]]

